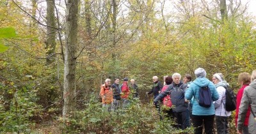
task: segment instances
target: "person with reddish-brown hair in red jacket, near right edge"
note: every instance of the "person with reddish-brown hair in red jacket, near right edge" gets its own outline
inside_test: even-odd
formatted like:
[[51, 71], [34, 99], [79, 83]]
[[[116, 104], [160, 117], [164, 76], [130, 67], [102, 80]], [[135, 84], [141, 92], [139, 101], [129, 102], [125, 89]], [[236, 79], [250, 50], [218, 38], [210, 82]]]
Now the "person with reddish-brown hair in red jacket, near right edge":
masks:
[[[241, 84], [241, 88], [237, 92], [237, 96], [236, 96], [236, 119], [235, 119], [236, 127], [237, 127], [239, 106], [240, 106], [240, 103], [241, 103], [241, 100], [242, 100], [244, 89], [245, 89], [245, 87], [249, 86], [249, 84], [251, 83], [250, 73], [246, 73], [246, 72], [240, 73], [238, 75], [238, 82], [239, 82], [239, 84]], [[249, 133], [248, 123], [249, 123], [250, 113], [251, 113], [251, 107], [248, 107], [248, 110], [246, 112], [246, 117], [244, 119], [244, 126], [243, 126], [243, 130], [242, 130], [243, 134], [248, 134]]]

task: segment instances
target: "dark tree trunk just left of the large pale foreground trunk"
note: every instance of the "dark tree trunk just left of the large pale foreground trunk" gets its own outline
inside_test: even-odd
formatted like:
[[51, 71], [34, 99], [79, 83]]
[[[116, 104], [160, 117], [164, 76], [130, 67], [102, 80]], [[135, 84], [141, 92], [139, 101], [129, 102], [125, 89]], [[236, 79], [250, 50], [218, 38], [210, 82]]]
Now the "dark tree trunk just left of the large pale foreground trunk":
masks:
[[54, 15], [54, 4], [55, 0], [46, 0], [47, 4], [47, 35], [46, 35], [46, 55], [49, 57], [46, 59], [46, 64], [51, 64], [55, 60], [55, 56], [51, 56], [55, 53], [56, 48], [56, 27], [55, 15]]

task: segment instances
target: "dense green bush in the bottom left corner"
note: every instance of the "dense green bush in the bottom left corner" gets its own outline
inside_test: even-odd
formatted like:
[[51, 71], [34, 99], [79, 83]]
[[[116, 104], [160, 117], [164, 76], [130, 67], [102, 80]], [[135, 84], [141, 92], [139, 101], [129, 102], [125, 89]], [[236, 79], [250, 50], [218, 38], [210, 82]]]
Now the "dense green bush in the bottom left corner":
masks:
[[[31, 119], [35, 115], [40, 115], [42, 108], [35, 102], [38, 99], [34, 91], [30, 91], [30, 87], [4, 86], [0, 84], [0, 89], [8, 94], [13, 94], [8, 102], [1, 94], [0, 101], [4, 105], [0, 106], [0, 131], [29, 133], [31, 126], [35, 125]], [[8, 104], [6, 104], [8, 103]], [[8, 105], [6, 107], [6, 105]]]

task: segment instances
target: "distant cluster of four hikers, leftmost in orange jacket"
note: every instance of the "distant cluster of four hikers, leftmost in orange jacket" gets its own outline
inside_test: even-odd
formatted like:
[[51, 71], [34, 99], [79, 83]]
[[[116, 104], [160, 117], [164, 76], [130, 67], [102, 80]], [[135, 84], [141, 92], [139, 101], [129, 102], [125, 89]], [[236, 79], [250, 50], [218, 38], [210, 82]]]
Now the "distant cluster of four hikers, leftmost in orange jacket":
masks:
[[129, 106], [129, 94], [131, 93], [134, 98], [138, 98], [138, 86], [134, 79], [131, 79], [131, 84], [128, 83], [128, 78], [124, 78], [120, 84], [119, 78], [115, 78], [114, 83], [111, 85], [111, 80], [107, 78], [105, 83], [100, 87], [100, 97], [102, 100], [102, 107], [108, 111], [120, 108], [122, 101], [122, 108]]

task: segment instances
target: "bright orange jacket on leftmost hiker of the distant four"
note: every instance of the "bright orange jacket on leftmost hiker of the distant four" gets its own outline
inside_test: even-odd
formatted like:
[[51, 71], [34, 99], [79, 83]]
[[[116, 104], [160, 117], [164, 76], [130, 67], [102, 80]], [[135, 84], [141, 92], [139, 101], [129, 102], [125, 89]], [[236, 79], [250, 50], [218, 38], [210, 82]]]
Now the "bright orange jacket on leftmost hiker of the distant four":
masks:
[[106, 87], [106, 85], [103, 84], [100, 87], [100, 96], [102, 99], [102, 104], [111, 104], [113, 101], [113, 92], [111, 87]]

